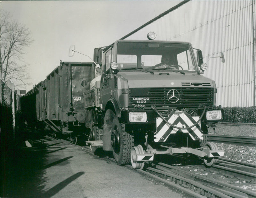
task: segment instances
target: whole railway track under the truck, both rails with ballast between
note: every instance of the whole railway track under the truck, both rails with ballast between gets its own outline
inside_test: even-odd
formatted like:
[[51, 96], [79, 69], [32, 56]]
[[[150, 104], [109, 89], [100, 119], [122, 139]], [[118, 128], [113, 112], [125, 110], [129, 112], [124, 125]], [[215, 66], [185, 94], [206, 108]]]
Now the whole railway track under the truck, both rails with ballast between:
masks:
[[[60, 141], [69, 143], [66, 140]], [[88, 146], [74, 146], [83, 147], [87, 152], [91, 152]], [[103, 158], [115, 162], [111, 156]], [[256, 197], [255, 191], [243, 188], [245, 184], [252, 184], [255, 188], [255, 164], [225, 158], [219, 158], [218, 163], [212, 167], [205, 167], [202, 164], [182, 166], [166, 162], [154, 163], [156, 164], [147, 163], [143, 170], [136, 171], [180, 190], [189, 197]], [[126, 167], [134, 170], [131, 165]]]

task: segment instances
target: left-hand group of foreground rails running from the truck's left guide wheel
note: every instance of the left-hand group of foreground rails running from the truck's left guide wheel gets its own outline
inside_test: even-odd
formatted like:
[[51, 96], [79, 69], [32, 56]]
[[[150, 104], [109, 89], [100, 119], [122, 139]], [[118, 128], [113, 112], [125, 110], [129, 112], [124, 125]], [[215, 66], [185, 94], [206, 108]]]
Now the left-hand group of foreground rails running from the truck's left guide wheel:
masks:
[[[197, 168], [200, 169], [200, 167]], [[161, 181], [163, 181], [163, 179], [167, 180], [168, 182], [163, 181], [166, 184], [173, 182], [173, 184], [175, 183], [179, 186], [178, 189], [194, 197], [255, 197], [255, 191], [228, 184], [227, 182], [221, 181], [221, 179], [211, 178], [205, 173], [199, 174], [198, 172], [191, 172], [187, 166], [175, 167], [164, 163], [158, 163], [154, 168], [148, 167], [146, 171], [138, 171], [147, 174], [148, 176], [150, 176], [148, 173], [152, 174], [152, 172], [155, 172], [158, 175], [152, 176], [153, 178], [159, 179], [158, 177], [160, 177], [161, 179], [159, 180]]]

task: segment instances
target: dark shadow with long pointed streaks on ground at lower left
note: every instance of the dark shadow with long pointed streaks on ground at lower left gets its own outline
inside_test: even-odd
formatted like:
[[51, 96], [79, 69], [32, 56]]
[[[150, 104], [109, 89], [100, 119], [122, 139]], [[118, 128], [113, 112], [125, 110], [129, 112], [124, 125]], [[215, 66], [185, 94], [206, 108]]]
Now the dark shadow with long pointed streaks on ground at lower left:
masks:
[[26, 148], [26, 139], [44, 139], [40, 133], [33, 130], [26, 130], [20, 144], [1, 142], [1, 183], [0, 197], [51, 197], [66, 187], [70, 182], [84, 174], [77, 172], [71, 177], [60, 181], [59, 184], [51, 189], [45, 190], [47, 180], [45, 172], [51, 166], [59, 165], [61, 162], [72, 158], [56, 159], [55, 162], [47, 164], [46, 145], [37, 145], [35, 148]]

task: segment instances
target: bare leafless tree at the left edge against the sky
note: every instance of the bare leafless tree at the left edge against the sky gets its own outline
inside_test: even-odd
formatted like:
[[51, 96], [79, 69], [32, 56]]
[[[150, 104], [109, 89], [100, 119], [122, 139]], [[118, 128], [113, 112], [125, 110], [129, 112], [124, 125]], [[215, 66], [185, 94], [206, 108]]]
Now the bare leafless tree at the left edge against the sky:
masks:
[[9, 14], [0, 15], [0, 69], [2, 80], [12, 80], [15, 86], [25, 86], [30, 79], [28, 64], [23, 62], [24, 47], [31, 44], [31, 32]]

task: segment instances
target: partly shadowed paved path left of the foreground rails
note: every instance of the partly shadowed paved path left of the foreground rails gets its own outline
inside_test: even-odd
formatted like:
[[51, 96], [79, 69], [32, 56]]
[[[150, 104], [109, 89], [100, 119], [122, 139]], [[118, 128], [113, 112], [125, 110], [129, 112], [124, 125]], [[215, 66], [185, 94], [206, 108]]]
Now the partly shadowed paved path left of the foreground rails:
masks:
[[5, 197], [185, 197], [83, 147], [62, 140], [44, 144], [13, 154], [13, 167], [5, 170]]

